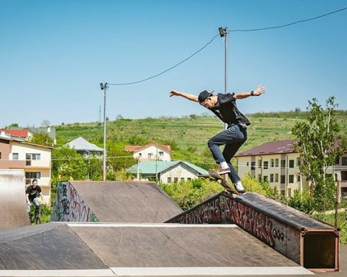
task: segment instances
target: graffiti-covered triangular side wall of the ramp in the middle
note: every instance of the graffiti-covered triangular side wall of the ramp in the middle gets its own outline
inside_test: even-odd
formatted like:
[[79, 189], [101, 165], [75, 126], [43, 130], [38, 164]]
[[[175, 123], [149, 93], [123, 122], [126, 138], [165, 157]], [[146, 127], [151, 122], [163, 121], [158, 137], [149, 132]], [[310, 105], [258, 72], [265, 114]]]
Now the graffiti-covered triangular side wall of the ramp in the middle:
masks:
[[58, 182], [51, 221], [99, 222], [69, 181]]

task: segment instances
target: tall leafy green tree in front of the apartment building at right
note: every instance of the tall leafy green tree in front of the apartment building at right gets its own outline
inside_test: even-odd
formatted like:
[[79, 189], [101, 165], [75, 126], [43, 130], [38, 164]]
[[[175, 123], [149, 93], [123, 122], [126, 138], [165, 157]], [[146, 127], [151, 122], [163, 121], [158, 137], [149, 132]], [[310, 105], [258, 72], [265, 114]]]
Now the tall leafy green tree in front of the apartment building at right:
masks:
[[292, 133], [297, 142], [294, 149], [301, 157], [300, 170], [310, 184], [310, 197], [314, 198], [315, 208], [332, 208], [335, 199], [334, 179], [327, 175], [328, 166], [332, 166], [346, 148], [346, 139], [338, 138], [335, 96], [326, 100], [323, 109], [314, 98], [309, 101], [309, 115], [305, 122], [294, 125]]

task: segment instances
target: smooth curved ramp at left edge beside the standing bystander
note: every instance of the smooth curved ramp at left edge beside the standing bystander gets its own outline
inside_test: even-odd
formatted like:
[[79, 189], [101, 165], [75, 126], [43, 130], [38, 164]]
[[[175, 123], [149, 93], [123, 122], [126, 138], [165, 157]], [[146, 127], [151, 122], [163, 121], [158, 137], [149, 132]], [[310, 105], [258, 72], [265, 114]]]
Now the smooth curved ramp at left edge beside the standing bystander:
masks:
[[0, 230], [30, 225], [23, 170], [0, 170]]

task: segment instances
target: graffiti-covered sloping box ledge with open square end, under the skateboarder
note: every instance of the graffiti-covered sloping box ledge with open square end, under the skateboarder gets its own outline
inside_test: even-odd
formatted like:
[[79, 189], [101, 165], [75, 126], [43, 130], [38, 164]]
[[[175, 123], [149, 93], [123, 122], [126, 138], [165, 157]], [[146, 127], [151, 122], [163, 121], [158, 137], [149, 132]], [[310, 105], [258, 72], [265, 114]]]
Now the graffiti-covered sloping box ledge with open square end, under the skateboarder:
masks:
[[339, 230], [257, 193], [222, 192], [167, 222], [237, 224], [312, 271], [339, 270]]

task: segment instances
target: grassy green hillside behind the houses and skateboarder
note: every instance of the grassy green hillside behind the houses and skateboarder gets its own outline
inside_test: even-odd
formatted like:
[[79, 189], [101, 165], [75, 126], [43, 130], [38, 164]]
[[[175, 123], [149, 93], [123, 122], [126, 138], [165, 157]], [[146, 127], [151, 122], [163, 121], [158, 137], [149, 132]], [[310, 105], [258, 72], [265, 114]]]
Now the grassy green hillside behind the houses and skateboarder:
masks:
[[[306, 112], [258, 113], [247, 115], [251, 120], [248, 140], [240, 151], [253, 148], [268, 141], [294, 139], [291, 128], [298, 121], [305, 120]], [[347, 111], [337, 111], [340, 134], [347, 136]], [[149, 141], [169, 144], [173, 148], [174, 159], [185, 159], [208, 168], [214, 163], [207, 147], [207, 141], [223, 129], [223, 123], [212, 116], [183, 116], [181, 118], [119, 119], [108, 121], [108, 145], [141, 145]], [[56, 126], [58, 144], [83, 136], [102, 147], [103, 124], [72, 123]], [[204, 165], [205, 164], [205, 165]]]

